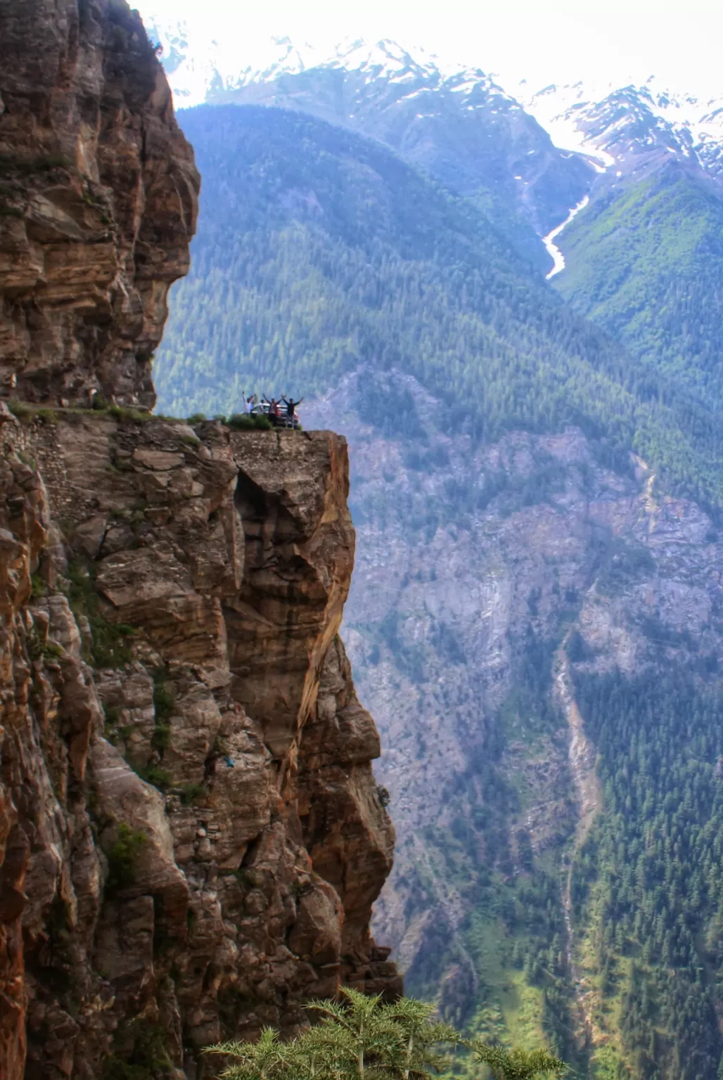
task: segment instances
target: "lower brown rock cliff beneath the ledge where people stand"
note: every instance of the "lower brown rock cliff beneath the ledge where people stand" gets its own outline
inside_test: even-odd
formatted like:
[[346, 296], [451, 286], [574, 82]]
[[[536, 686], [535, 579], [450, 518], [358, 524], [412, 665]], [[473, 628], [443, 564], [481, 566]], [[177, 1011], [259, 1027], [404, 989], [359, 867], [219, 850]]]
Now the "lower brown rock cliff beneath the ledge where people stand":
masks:
[[342, 981], [398, 993], [337, 636], [344, 440], [0, 431], [0, 1074], [200, 1078], [204, 1044], [294, 1029]]

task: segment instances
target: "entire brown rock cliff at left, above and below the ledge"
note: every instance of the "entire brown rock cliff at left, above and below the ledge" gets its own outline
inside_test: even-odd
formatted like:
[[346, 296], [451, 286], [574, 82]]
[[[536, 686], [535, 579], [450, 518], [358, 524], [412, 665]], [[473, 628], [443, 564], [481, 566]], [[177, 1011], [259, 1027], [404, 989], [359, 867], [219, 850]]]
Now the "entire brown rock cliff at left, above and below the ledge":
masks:
[[401, 986], [347, 448], [122, 407], [155, 401], [191, 149], [124, 2], [4, 3], [0, 51], [0, 1076], [201, 1078], [219, 1037]]

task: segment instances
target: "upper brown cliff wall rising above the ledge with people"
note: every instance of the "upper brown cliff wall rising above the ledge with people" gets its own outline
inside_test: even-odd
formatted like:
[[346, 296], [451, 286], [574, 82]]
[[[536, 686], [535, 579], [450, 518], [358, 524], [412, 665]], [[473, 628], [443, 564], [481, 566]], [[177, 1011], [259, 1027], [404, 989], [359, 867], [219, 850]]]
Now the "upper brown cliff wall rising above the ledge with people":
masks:
[[199, 177], [137, 12], [0, 10], [0, 395], [152, 407]]

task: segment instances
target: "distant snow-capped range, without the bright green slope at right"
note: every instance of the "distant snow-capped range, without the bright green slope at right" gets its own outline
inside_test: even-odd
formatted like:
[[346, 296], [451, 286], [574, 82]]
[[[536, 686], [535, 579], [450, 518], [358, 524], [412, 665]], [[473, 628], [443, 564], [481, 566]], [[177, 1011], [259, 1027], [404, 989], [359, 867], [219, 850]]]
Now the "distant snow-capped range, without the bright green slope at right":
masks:
[[[201, 23], [146, 25], [177, 105], [297, 109], [389, 144], [457, 190], [511, 184], [540, 235], [592, 191], [593, 170], [617, 184], [670, 159], [723, 177], [723, 98], [674, 93], [654, 76], [534, 93], [523, 82], [511, 96], [479, 67], [390, 38], [320, 49], [286, 36], [240, 40]], [[451, 143], [457, 157], [441, 149]]]

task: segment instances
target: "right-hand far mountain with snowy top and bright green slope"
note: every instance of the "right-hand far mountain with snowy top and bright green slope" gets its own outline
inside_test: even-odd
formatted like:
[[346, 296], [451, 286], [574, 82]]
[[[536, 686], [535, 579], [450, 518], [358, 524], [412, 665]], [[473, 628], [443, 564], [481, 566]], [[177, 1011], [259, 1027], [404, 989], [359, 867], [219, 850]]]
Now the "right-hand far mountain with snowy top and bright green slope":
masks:
[[528, 107], [561, 145], [604, 157], [589, 205], [562, 232], [554, 284], [633, 355], [721, 401], [723, 186], [720, 100], [654, 79], [597, 98], [547, 87]]

